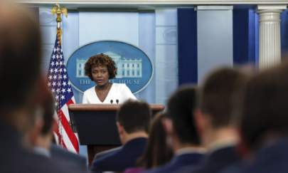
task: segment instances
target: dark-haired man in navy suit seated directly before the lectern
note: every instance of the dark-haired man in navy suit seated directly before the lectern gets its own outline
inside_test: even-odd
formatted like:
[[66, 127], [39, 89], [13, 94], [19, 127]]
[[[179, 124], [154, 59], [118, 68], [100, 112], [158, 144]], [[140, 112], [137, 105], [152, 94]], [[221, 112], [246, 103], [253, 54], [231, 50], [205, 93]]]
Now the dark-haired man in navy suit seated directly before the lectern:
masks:
[[147, 103], [128, 100], [117, 112], [117, 130], [122, 148], [105, 154], [92, 162], [93, 172], [122, 172], [134, 167], [138, 157], [144, 152], [151, 110]]

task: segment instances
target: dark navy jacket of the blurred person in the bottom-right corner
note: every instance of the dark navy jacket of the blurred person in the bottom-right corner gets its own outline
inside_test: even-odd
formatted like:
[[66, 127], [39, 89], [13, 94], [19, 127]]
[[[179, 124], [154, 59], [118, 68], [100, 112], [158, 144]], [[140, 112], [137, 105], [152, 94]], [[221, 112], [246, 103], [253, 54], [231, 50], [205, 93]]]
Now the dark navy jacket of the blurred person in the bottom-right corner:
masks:
[[288, 138], [274, 142], [256, 152], [252, 160], [244, 160], [225, 173], [287, 173], [288, 172]]

